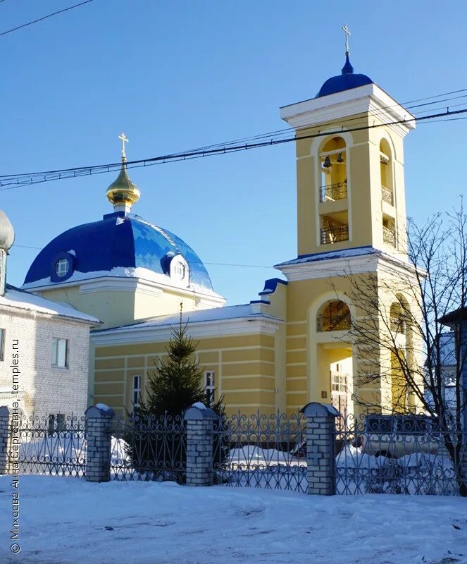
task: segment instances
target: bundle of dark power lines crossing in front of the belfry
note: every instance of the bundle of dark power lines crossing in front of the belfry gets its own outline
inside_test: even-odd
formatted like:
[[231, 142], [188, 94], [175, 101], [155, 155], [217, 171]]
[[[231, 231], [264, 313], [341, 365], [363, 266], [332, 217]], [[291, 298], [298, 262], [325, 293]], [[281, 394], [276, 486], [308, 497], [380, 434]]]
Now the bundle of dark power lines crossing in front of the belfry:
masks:
[[[428, 121], [432, 120], [435, 121], [435, 118], [442, 118], [446, 116], [456, 116], [459, 114], [467, 113], [467, 109], [459, 109], [454, 111], [447, 111], [440, 112], [438, 114], [430, 114], [428, 116], [412, 116], [408, 119], [403, 120], [396, 120], [386, 123], [375, 123], [373, 125], [362, 125], [359, 127], [354, 128], [347, 128], [345, 129], [346, 132], [354, 132], [354, 131], [361, 131], [373, 128], [384, 127], [387, 125], [401, 125], [403, 123], [409, 122], [421, 122], [421, 121]], [[329, 135], [340, 135], [344, 131], [344, 127], [333, 130], [333, 131], [325, 131], [318, 133], [310, 133], [308, 135], [300, 135], [294, 137], [286, 137], [282, 139], [273, 139], [270, 140], [261, 140], [258, 142], [252, 143], [242, 143], [242, 145], [224, 145], [221, 147], [214, 147], [213, 149], [194, 149], [193, 151], [185, 152], [185, 153], [173, 153], [162, 155], [160, 157], [151, 157], [149, 159], [139, 159], [135, 161], [128, 161], [127, 168], [137, 168], [142, 166], [153, 166], [155, 164], [166, 164], [168, 162], [174, 161], [181, 161], [181, 160], [189, 160], [189, 159], [198, 159], [201, 157], [208, 157], [214, 156], [217, 154], [228, 154], [232, 152], [239, 152], [239, 151], [246, 151], [248, 149], [257, 149], [259, 147], [270, 147], [273, 145], [282, 145], [289, 142], [296, 142], [297, 140], [304, 140], [304, 139], [311, 139], [314, 137], [323, 137]], [[63, 180], [65, 178], [77, 178], [80, 176], [89, 176], [92, 174], [99, 174], [99, 173], [107, 173], [120, 168], [120, 163], [111, 163], [111, 164], [104, 164], [104, 165], [97, 165], [97, 166], [84, 166], [78, 168], [67, 168], [57, 171], [46, 171], [40, 173], [23, 173], [18, 175], [7, 175], [7, 176], [0, 176], [0, 190], [13, 190], [14, 188], [18, 188], [19, 186], [23, 185], [32, 185], [37, 183], [44, 183], [50, 182], [52, 180]]]

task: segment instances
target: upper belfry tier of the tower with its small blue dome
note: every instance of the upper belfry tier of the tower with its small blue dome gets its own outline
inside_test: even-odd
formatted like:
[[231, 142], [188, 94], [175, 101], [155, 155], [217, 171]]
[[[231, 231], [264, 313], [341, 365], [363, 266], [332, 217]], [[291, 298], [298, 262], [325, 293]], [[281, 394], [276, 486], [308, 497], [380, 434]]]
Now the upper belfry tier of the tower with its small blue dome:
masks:
[[297, 254], [375, 247], [404, 258], [404, 137], [415, 121], [371, 78], [340, 75], [285, 106], [296, 132]]

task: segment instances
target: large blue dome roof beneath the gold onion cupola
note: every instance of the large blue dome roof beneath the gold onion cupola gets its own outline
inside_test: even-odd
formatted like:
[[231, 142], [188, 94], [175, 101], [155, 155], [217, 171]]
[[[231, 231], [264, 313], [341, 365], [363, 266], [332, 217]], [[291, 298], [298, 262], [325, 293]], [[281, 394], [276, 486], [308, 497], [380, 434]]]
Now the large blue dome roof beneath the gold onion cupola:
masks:
[[[116, 212], [101, 221], [68, 229], [51, 240], [31, 264], [24, 283], [42, 286], [66, 281], [73, 274], [77, 274], [75, 279], [93, 278], [92, 273], [118, 276], [118, 272], [110, 272], [118, 267], [143, 268], [168, 276], [175, 255], [182, 255], [188, 264], [190, 287], [212, 290], [208, 271], [185, 241], [137, 215]], [[58, 278], [56, 264], [60, 259], [68, 260], [69, 267]], [[82, 276], [86, 273], [89, 276]]]

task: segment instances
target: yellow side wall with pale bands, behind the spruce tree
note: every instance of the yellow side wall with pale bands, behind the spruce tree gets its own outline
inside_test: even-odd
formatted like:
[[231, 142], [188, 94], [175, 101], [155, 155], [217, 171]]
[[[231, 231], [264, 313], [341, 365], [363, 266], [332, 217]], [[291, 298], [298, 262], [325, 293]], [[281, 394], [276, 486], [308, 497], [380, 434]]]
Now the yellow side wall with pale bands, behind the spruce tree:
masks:
[[[123, 412], [131, 409], [132, 376], [142, 376], [142, 398], [154, 363], [166, 355], [167, 343], [96, 347], [94, 402]], [[216, 399], [224, 396], [228, 412], [273, 412], [275, 396], [275, 338], [245, 335], [201, 338], [197, 347], [204, 370], [216, 374]]]

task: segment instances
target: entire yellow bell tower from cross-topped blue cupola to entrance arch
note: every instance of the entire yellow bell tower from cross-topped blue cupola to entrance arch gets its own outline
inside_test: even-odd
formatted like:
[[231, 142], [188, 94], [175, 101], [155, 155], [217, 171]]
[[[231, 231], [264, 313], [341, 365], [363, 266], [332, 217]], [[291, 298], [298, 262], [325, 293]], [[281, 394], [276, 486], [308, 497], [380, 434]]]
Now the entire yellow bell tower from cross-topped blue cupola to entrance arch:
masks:
[[[318, 401], [342, 415], [401, 405], [390, 351], [377, 344], [363, 353], [352, 337], [360, 319], [374, 320], [380, 336], [394, 329], [403, 354], [421, 362], [413, 328], [394, 321], [400, 304], [410, 301], [400, 282], [407, 288], [413, 273], [406, 254], [404, 137], [415, 118], [354, 72], [347, 26], [344, 32], [340, 75], [315, 97], [281, 108], [296, 136], [297, 258], [275, 266], [287, 277], [287, 408]], [[370, 287], [375, 308], [368, 314], [359, 288]], [[371, 379], [363, 377], [368, 373]], [[414, 401], [404, 394], [404, 405]]]

